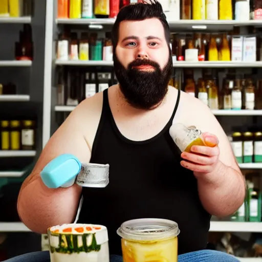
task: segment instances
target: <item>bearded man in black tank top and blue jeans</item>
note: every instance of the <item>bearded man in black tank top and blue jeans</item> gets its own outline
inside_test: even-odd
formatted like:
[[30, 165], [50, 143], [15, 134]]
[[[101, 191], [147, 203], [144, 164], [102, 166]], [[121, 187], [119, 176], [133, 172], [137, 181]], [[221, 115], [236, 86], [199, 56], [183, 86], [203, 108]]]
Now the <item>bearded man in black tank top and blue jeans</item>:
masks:
[[[158, 2], [120, 10], [112, 31], [119, 85], [80, 103], [43, 149], [18, 198], [21, 220], [31, 230], [47, 233], [52, 225], [74, 222], [82, 196], [77, 222], [107, 227], [110, 252], [118, 255], [111, 261], [121, 261], [117, 228], [142, 217], [178, 223], [180, 262], [237, 261], [205, 249], [211, 215], [237, 210], [244, 201], [245, 181], [209, 108], [168, 86], [169, 36]], [[172, 122], [209, 132], [203, 137], [213, 147], [193, 146], [181, 154], [169, 135]], [[110, 184], [103, 189], [76, 184], [47, 188], [41, 170], [65, 153], [85, 163], [110, 164]], [[24, 255], [23, 261], [45, 258], [49, 259], [48, 253], [40, 252]]]

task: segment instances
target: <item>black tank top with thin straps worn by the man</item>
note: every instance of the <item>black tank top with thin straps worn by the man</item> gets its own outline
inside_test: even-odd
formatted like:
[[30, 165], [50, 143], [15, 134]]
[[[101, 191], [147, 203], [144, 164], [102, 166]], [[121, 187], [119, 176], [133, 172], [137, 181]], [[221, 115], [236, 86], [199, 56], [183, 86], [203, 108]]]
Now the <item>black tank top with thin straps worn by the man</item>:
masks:
[[121, 255], [118, 227], [143, 217], [178, 223], [179, 254], [205, 249], [210, 215], [198, 195], [192, 171], [180, 165], [180, 152], [169, 135], [172, 116], [162, 131], [145, 141], [131, 141], [119, 131], [103, 91], [103, 108], [94, 140], [91, 163], [110, 164], [106, 188], [83, 188], [78, 223], [107, 227], [111, 254]]

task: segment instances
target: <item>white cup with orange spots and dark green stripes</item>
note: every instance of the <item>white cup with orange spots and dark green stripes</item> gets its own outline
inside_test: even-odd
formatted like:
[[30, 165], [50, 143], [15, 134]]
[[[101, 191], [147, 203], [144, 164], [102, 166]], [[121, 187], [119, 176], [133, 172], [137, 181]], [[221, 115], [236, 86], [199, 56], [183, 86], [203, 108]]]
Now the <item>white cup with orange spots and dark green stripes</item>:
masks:
[[51, 262], [109, 262], [107, 228], [63, 224], [48, 229]]

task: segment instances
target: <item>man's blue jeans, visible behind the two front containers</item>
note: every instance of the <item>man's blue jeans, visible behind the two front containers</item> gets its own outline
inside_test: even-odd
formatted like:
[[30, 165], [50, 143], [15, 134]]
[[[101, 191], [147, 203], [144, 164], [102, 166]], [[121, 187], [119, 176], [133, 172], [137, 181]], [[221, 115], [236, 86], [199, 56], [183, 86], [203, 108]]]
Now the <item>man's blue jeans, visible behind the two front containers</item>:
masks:
[[[179, 262], [239, 262], [234, 256], [214, 250], [201, 250], [179, 255]], [[3, 262], [50, 262], [49, 251], [28, 253]], [[102, 262], [102, 261], [101, 261]], [[110, 262], [123, 262], [121, 256], [112, 255]]]

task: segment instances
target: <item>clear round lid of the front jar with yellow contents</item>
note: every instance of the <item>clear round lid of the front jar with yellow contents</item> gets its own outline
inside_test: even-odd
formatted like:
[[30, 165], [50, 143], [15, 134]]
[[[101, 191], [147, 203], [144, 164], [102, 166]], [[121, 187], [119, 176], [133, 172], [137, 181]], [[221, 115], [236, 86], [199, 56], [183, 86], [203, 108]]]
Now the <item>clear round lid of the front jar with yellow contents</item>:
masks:
[[176, 237], [180, 233], [178, 224], [166, 219], [135, 219], [124, 222], [117, 234], [134, 241], [154, 241]]

